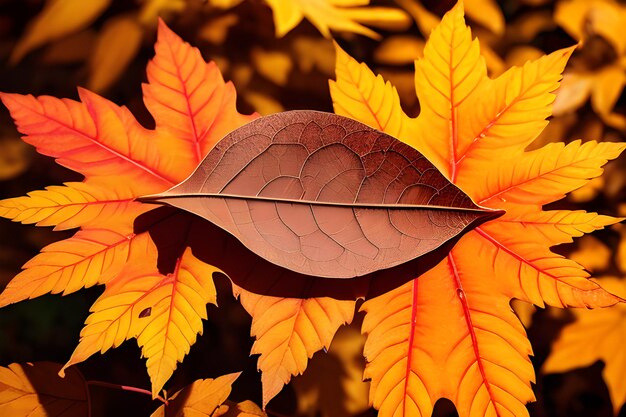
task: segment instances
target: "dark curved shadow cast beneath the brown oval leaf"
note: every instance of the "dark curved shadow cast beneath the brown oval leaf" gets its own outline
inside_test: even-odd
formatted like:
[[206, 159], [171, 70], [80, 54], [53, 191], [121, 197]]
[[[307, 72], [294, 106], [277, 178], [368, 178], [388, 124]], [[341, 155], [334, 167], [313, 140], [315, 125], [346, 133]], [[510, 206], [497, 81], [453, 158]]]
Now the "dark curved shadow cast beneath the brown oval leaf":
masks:
[[[465, 230], [487, 220], [483, 217]], [[393, 268], [350, 279], [319, 278], [297, 273], [266, 261], [232, 235], [193, 214], [159, 207], [135, 220], [135, 233], [149, 232], [159, 251], [161, 273], [174, 270], [176, 259], [187, 246], [198, 259], [228, 275], [235, 285], [261, 295], [288, 298], [332, 297], [340, 300], [373, 298], [384, 294], [437, 265], [461, 238], [457, 235], [427, 255]]]

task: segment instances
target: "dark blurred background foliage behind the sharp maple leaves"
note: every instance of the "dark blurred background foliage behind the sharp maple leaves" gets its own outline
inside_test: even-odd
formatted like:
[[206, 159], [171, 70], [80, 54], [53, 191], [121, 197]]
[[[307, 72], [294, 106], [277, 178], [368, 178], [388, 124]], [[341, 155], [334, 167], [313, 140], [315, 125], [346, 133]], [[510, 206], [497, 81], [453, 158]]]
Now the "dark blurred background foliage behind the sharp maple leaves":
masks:
[[[410, 115], [419, 113], [413, 62], [425, 36], [452, 0], [0, 0], [0, 90], [76, 98], [76, 86], [128, 106], [141, 123], [153, 120], [142, 104], [144, 68], [153, 55], [158, 17], [214, 60], [239, 93], [242, 112], [271, 114], [286, 109], [332, 111], [328, 79], [334, 77], [333, 38], [357, 60], [398, 89]], [[554, 117], [537, 140], [624, 141], [626, 134], [626, 2], [617, 0], [465, 0], [468, 22], [481, 42], [491, 76], [543, 53], [577, 42]], [[565, 207], [626, 216], [624, 158], [606, 174], [552, 208]], [[19, 139], [8, 112], [0, 113], [0, 198], [24, 195], [50, 184], [79, 180]], [[0, 287], [41, 247], [61, 232], [0, 222]], [[558, 250], [594, 276], [620, 280], [626, 274], [626, 226], [618, 224]], [[209, 308], [204, 335], [174, 374], [175, 391], [197, 378], [245, 371], [232, 399], [260, 402], [256, 358], [249, 357], [250, 318], [234, 301], [226, 279], [218, 280], [220, 305]], [[221, 291], [220, 291], [221, 290]], [[0, 313], [0, 365], [65, 362], [77, 343], [94, 288], [61, 298], [45, 296]], [[605, 364], [559, 374], [540, 373], [552, 343], [579, 312], [513, 307], [526, 325], [538, 372], [535, 417], [614, 414]], [[586, 314], [586, 312], [580, 312]], [[626, 315], [621, 314], [622, 322]], [[626, 326], [621, 338], [626, 342]], [[267, 410], [275, 416], [374, 416], [367, 384], [360, 320], [338, 333], [327, 354], [315, 355]], [[133, 343], [81, 365], [88, 379], [148, 387]], [[626, 360], [621, 363], [626, 380]], [[614, 384], [615, 382], [613, 382]], [[113, 400], [114, 399], [114, 400]], [[150, 398], [95, 389], [97, 415], [148, 415]], [[619, 412], [620, 404], [615, 408]], [[435, 415], [455, 416], [440, 401]], [[626, 407], [620, 413], [626, 416]], [[94, 415], [95, 417], [96, 415]]]

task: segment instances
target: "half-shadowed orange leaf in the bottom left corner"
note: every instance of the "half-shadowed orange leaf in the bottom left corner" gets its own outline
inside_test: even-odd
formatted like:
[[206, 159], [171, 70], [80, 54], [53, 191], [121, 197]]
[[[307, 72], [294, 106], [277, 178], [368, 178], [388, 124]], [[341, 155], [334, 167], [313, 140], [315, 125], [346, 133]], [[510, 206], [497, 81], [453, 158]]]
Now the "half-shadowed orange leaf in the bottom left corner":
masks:
[[84, 417], [89, 393], [76, 369], [60, 378], [61, 365], [12, 363], [0, 367], [0, 414], [3, 416]]

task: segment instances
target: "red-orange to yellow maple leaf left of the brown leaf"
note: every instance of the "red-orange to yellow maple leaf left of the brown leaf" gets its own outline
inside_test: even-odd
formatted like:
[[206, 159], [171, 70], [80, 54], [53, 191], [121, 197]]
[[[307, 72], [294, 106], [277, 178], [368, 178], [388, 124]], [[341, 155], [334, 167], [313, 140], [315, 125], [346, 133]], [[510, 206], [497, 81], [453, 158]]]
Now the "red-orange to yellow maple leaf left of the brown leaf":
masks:
[[134, 220], [152, 206], [134, 199], [186, 178], [219, 139], [256, 117], [237, 112], [232, 84], [163, 22], [155, 50], [143, 86], [154, 130], [82, 89], [80, 102], [2, 94], [24, 140], [85, 180], [0, 202], [0, 215], [14, 221], [81, 226], [29, 261], [0, 295], [0, 306], [107, 284], [66, 367], [136, 337], [154, 395], [202, 331], [206, 304], [215, 303], [216, 269], [183, 245], [173, 272], [161, 274], [149, 234], [133, 233]]

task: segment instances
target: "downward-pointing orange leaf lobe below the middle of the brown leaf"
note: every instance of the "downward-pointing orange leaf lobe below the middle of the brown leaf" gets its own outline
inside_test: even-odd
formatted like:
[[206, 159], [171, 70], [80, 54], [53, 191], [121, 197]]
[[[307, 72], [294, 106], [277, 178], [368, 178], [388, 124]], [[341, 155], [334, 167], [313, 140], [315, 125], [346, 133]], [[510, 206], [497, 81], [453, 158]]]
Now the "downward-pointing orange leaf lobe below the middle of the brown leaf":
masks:
[[233, 286], [241, 305], [252, 316], [250, 334], [256, 337], [252, 354], [259, 354], [263, 408], [306, 369], [308, 360], [328, 349], [339, 326], [350, 323], [355, 301], [333, 298], [280, 298], [258, 295]]

